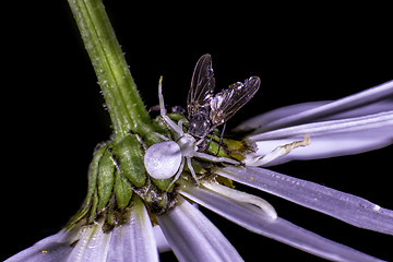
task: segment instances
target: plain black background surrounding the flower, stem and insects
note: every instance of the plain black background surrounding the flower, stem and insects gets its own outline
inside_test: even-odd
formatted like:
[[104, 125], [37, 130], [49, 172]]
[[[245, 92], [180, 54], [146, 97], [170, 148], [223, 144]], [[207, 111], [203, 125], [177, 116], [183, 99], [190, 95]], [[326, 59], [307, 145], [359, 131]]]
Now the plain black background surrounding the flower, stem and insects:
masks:
[[[393, 78], [389, 7], [133, 5], [104, 1], [147, 107], [164, 75], [168, 106], [186, 106], [193, 67], [211, 53], [217, 90], [250, 75], [262, 85], [228, 124], [281, 106], [336, 99]], [[16, 2], [15, 2], [16, 3]], [[0, 260], [57, 233], [86, 192], [95, 145], [110, 135], [104, 99], [66, 1], [4, 7]], [[7, 12], [9, 13], [7, 13]], [[272, 169], [393, 209], [392, 146]], [[246, 189], [240, 187], [240, 189]], [[346, 225], [275, 196], [279, 216], [332, 240], [392, 260], [392, 237]], [[246, 261], [317, 258], [204, 211]], [[170, 261], [168, 254], [163, 259]]]

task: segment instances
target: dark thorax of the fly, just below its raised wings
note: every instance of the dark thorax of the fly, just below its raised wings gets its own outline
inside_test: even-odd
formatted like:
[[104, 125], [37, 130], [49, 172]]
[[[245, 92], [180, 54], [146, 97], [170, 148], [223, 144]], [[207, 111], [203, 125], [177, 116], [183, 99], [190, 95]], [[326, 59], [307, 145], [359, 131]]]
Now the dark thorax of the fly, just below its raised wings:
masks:
[[209, 109], [201, 107], [194, 115], [190, 116], [189, 118], [190, 127], [188, 132], [198, 138], [206, 136], [212, 127]]

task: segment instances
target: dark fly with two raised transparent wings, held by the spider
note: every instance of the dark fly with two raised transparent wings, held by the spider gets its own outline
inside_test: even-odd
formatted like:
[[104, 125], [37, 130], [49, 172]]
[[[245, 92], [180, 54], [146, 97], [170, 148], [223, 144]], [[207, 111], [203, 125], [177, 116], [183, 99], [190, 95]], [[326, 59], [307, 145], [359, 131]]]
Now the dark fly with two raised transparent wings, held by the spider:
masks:
[[205, 138], [246, 105], [259, 90], [260, 83], [258, 76], [251, 76], [245, 83], [234, 83], [213, 95], [215, 80], [212, 57], [209, 53], [202, 56], [196, 62], [187, 98], [188, 132], [196, 138]]

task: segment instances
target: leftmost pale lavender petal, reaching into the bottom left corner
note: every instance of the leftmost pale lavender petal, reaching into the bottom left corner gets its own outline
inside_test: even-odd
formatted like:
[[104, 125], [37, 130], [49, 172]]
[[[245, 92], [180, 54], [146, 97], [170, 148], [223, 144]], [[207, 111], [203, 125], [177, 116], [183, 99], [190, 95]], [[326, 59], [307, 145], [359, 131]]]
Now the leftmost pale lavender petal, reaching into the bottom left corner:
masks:
[[72, 251], [70, 239], [73, 233], [61, 230], [44, 238], [28, 249], [9, 258], [4, 262], [62, 262]]

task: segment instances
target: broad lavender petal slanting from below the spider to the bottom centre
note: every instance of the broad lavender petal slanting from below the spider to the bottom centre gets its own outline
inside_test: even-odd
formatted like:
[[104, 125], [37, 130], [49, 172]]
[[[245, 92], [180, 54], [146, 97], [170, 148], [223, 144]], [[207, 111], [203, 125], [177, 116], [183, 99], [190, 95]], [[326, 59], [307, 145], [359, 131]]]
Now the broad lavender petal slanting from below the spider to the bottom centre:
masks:
[[186, 200], [157, 219], [179, 261], [242, 261], [224, 235]]

